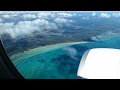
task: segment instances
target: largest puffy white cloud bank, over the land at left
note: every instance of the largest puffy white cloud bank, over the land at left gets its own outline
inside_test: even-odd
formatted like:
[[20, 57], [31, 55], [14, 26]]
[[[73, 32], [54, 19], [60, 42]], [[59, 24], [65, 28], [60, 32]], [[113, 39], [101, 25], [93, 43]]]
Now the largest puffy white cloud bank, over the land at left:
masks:
[[44, 32], [44, 29], [57, 29], [57, 26], [55, 23], [51, 23], [44, 19], [20, 21], [17, 24], [13, 22], [0, 24], [0, 34], [2, 35], [7, 33], [13, 39], [32, 35], [34, 31], [39, 31], [42, 34]]

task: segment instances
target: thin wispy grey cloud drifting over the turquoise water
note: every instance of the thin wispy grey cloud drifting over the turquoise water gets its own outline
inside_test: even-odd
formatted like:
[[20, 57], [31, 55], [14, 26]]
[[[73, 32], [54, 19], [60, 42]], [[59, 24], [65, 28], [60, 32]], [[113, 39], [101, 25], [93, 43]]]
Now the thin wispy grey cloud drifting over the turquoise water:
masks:
[[76, 58], [77, 50], [75, 48], [72, 48], [70, 46], [64, 46], [62, 49], [67, 51], [71, 58], [78, 61], [78, 58]]

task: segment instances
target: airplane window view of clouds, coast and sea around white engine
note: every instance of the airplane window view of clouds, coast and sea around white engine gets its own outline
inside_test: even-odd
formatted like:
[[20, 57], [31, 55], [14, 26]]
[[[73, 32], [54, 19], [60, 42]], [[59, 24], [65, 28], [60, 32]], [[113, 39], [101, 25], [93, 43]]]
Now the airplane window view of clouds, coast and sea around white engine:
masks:
[[77, 79], [85, 51], [120, 49], [120, 12], [0, 11], [0, 35], [26, 79]]

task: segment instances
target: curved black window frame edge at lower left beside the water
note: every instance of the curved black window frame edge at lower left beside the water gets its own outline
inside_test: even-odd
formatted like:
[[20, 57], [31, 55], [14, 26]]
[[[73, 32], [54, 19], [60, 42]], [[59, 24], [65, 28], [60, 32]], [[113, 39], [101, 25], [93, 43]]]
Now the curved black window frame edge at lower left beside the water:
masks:
[[11, 79], [25, 79], [10, 60], [9, 56], [7, 55], [7, 52], [4, 49], [3, 42], [1, 39], [2, 38], [0, 38], [1, 63], [4, 69], [6, 70], [7, 74], [10, 76]]

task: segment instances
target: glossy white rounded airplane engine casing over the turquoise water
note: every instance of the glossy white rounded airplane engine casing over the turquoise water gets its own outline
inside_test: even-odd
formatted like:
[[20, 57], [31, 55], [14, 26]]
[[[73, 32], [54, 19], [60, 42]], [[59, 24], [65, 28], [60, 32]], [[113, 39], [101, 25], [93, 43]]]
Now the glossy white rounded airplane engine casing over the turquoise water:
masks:
[[87, 50], [80, 61], [77, 76], [86, 79], [120, 79], [120, 50]]

